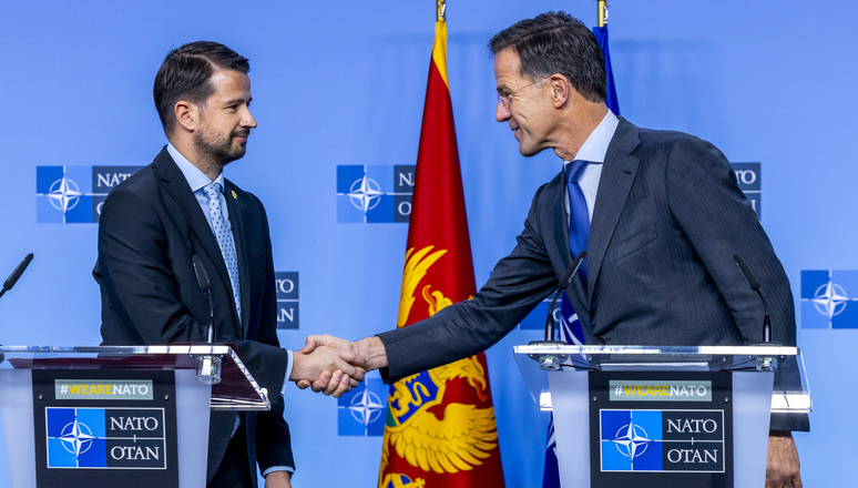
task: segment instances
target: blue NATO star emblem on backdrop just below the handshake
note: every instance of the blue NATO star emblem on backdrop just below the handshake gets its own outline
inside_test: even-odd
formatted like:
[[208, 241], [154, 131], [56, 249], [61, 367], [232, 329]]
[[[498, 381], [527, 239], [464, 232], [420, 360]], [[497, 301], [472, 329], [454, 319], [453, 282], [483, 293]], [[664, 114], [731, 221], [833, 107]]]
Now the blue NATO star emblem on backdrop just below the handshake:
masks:
[[337, 400], [340, 436], [381, 436], [385, 434], [385, 411], [389, 388], [380, 378], [364, 383]]

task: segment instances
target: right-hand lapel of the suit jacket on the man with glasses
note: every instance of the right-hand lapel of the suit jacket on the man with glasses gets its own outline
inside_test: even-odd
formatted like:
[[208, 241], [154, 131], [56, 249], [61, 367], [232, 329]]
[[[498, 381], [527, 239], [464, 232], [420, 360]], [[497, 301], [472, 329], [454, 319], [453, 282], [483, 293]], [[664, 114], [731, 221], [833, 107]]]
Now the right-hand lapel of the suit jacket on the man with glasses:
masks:
[[616, 223], [623, 212], [632, 184], [637, 174], [639, 159], [632, 152], [641, 143], [637, 128], [620, 119], [611, 144], [607, 146], [602, 176], [599, 182], [599, 193], [593, 222], [590, 225], [588, 241], [588, 303], [593, 297], [599, 282], [599, 272], [605, 258], [607, 244], [614, 234]]

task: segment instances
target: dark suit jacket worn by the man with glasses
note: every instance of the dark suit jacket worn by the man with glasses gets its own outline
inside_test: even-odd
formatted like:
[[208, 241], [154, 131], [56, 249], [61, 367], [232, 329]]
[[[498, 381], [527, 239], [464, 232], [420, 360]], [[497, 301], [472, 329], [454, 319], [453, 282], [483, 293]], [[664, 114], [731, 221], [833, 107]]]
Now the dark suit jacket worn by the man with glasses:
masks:
[[[789, 281], [724, 155], [697, 138], [621, 119], [593, 209], [589, 286], [576, 277], [565, 289], [586, 342], [760, 342], [763, 306], [734, 254], [767, 294], [773, 340], [795, 345]], [[561, 172], [537, 191], [518, 245], [477, 296], [379, 334], [389, 362], [382, 375], [397, 380], [493, 345], [556, 289], [571, 265]]]

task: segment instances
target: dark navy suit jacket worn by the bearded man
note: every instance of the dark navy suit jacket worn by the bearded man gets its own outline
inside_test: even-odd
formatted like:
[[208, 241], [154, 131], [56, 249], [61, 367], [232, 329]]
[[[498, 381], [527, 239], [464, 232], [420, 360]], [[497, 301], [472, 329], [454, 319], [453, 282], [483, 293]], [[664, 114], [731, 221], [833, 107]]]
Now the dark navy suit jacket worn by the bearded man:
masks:
[[[268, 221], [259, 200], [228, 180], [224, 195], [238, 255], [241, 323], [214, 233], [182, 171], [164, 148], [152, 164], [113, 189], [102, 207], [99, 258], [93, 270], [101, 286], [102, 344], [205, 342], [208, 299], [192, 264], [192, 256], [200, 256], [212, 284], [215, 342], [234, 344], [272, 398], [270, 411], [245, 417], [249, 466], [253, 469], [258, 458], [263, 470], [294, 467], [279, 397], [288, 353], [279, 347], [276, 334]], [[229, 443], [234, 419], [234, 413], [212, 413], [210, 481]]]

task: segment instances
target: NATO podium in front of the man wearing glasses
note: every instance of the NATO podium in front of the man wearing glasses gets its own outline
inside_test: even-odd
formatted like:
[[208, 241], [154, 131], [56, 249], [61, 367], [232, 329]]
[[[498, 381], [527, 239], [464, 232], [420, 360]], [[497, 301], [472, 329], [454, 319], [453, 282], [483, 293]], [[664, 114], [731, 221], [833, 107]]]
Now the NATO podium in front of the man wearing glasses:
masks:
[[770, 414], [811, 410], [796, 347], [534, 344], [513, 353], [533, 400], [553, 411], [563, 487], [762, 487]]

